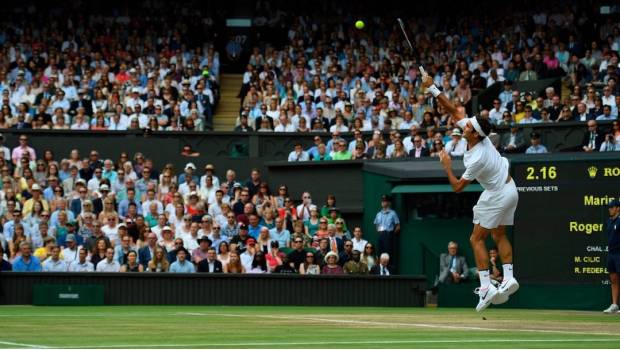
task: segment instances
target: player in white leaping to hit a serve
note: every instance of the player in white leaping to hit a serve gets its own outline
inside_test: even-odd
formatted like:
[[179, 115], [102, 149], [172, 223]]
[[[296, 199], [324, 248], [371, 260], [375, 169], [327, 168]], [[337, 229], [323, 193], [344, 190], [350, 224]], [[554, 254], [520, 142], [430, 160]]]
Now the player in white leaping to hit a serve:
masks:
[[[454, 192], [461, 192], [473, 180], [477, 180], [484, 188], [474, 206], [474, 230], [470, 237], [480, 275], [480, 300], [476, 311], [482, 311], [491, 303], [506, 302], [508, 296], [519, 289], [519, 283], [512, 273], [512, 246], [506, 238], [506, 225], [513, 224], [519, 201], [517, 187], [508, 174], [508, 160], [500, 156], [487, 137], [491, 132], [489, 120], [480, 117], [465, 118], [465, 111], [457, 109], [425, 73], [422, 74], [422, 86], [456, 119], [457, 125], [463, 129], [463, 138], [467, 140], [467, 151], [463, 156], [465, 172], [460, 179], [452, 172], [450, 155], [444, 150], [439, 156], [452, 189]], [[504, 280], [499, 288], [491, 284], [489, 277], [489, 253], [485, 245], [489, 231], [503, 262]]]

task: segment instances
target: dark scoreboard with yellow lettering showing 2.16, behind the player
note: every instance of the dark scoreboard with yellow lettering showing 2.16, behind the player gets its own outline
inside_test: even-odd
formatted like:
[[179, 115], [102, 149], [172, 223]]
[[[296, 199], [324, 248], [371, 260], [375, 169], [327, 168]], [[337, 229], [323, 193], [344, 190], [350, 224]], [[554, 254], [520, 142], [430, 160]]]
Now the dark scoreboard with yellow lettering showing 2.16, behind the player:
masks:
[[620, 198], [618, 161], [512, 164], [519, 190], [514, 262], [520, 281], [607, 284], [607, 203]]

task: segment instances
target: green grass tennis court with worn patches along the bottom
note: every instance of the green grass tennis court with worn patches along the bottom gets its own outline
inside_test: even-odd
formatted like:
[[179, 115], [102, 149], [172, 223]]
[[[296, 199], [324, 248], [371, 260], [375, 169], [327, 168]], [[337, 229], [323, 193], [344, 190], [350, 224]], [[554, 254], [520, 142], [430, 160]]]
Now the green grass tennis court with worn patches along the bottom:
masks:
[[0, 307], [4, 348], [617, 348], [619, 330], [620, 315], [583, 311]]

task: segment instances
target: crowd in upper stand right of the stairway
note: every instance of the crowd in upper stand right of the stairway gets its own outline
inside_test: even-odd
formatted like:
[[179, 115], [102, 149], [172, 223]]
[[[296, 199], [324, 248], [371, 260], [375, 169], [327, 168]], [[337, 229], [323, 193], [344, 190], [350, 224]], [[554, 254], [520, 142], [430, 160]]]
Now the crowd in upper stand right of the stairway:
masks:
[[[331, 6], [331, 13], [346, 14], [338, 4]], [[411, 18], [406, 29], [413, 51], [394, 18], [373, 16], [358, 30], [353, 25], [356, 18], [344, 14], [330, 19], [292, 16], [285, 45], [254, 47], [235, 130], [411, 131], [421, 136], [422, 145], [432, 146], [423, 147], [423, 153], [432, 155], [435, 146], [445, 148], [460, 135], [453, 132], [451, 116], [420, 90], [420, 65], [468, 113], [472, 96], [500, 83], [501, 93], [493, 105], [482, 106], [480, 112], [496, 125], [618, 118], [620, 24], [613, 17], [577, 4], [555, 9], [544, 3], [531, 8], [506, 6], [503, 11], [510, 16]], [[570, 96], [562, 99], [557, 87], [540, 94], [513, 89], [518, 82], [545, 78], [560, 78]], [[443, 128], [448, 131], [438, 130]], [[620, 134], [614, 140], [617, 145], [612, 148], [620, 149]], [[406, 157], [412, 149], [405, 144], [401, 151], [403, 145], [393, 139], [379, 144], [374, 137], [358, 141], [348, 144], [351, 154], [344, 158]], [[462, 145], [453, 145], [451, 151], [462, 154]], [[325, 146], [332, 158], [342, 151]], [[357, 152], [358, 146], [363, 151]], [[291, 160], [317, 159], [300, 150], [294, 153]]]

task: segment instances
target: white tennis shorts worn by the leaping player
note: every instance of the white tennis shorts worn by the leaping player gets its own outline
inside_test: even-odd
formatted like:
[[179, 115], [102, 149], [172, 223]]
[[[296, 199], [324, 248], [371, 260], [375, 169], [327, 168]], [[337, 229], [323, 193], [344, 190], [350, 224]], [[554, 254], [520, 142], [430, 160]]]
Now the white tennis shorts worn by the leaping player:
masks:
[[519, 193], [512, 179], [499, 191], [485, 190], [474, 206], [474, 224], [486, 229], [513, 225], [518, 201]]

